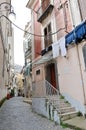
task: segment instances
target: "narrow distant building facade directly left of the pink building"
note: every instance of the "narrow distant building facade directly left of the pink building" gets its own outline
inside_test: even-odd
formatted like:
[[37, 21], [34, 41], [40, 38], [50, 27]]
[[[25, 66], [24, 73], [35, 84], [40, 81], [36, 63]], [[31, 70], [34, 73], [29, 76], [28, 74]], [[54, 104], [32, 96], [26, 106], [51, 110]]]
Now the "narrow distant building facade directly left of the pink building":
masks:
[[24, 33], [24, 57], [25, 57], [25, 66], [23, 68], [24, 73], [24, 95], [25, 97], [31, 97], [32, 93], [32, 40], [31, 40], [31, 22], [28, 22], [25, 26]]

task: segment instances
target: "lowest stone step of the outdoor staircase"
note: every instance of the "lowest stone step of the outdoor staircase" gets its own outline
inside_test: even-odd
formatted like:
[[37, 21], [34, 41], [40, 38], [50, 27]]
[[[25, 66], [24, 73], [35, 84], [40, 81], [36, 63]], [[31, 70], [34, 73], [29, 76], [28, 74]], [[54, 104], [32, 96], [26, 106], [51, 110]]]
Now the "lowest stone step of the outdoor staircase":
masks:
[[68, 119], [71, 119], [73, 117], [76, 117], [77, 111], [62, 113], [62, 114], [59, 114], [59, 115], [61, 117], [61, 120], [64, 121], [64, 120], [68, 120]]

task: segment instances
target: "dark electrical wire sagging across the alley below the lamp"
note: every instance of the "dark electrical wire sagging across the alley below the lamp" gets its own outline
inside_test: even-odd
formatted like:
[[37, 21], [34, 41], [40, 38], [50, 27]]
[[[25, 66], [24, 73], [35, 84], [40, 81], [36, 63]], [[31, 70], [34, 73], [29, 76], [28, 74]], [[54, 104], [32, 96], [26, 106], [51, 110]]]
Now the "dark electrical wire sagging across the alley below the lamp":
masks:
[[[1, 17], [6, 18], [6, 19], [7, 19], [10, 23], [12, 23], [16, 28], [20, 29], [21, 31], [23, 31], [23, 32], [25, 32], [25, 33], [29, 33], [30, 35], [33, 35], [33, 36], [36, 36], [36, 37], [45, 37], [45, 35], [39, 35], [39, 34], [34, 34], [34, 33], [31, 33], [31, 32], [25, 31], [24, 29], [20, 28], [18, 25], [16, 25], [15, 23], [13, 23], [13, 22], [12, 22], [8, 17], [6, 17], [5, 15], [1, 15], [0, 18], [1, 18]], [[53, 32], [53, 33], [50, 33], [49, 35], [46, 35], [46, 37], [47, 37], [47, 36], [51, 36], [51, 35], [55, 35], [55, 34], [58, 33], [59, 31], [64, 30], [64, 29], [65, 29], [65, 27], [60, 28], [60, 29], [58, 29], [56, 32]]]

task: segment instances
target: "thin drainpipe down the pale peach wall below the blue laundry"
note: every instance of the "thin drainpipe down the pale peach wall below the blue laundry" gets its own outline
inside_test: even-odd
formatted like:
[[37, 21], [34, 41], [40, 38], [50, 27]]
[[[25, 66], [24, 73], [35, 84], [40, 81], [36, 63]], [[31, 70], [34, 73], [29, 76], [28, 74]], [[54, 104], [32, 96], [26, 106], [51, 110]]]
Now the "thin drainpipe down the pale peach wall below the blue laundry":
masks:
[[[80, 66], [80, 74], [81, 74], [82, 89], [83, 89], [83, 96], [84, 96], [84, 105], [86, 107], [85, 85], [84, 85], [84, 80], [83, 80], [83, 74], [82, 74], [82, 68], [81, 68], [81, 62], [80, 62], [80, 55], [79, 55], [78, 45], [76, 45], [76, 50], [77, 50], [78, 61], [79, 61], [79, 66]], [[86, 108], [85, 108], [85, 115], [84, 116], [86, 118]]]

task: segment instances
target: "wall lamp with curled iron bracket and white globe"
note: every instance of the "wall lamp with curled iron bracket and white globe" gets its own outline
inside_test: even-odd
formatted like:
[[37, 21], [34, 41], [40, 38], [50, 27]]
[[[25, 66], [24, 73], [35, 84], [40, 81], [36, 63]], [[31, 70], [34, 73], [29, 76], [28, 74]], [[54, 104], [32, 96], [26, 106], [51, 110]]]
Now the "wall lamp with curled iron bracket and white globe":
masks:
[[16, 19], [16, 14], [14, 13], [13, 6], [8, 2], [3, 2], [3, 3], [0, 3], [0, 9], [1, 9], [2, 5], [9, 5], [10, 8], [8, 9], [8, 7], [5, 6], [5, 9], [7, 9], [7, 11], [10, 11], [9, 12], [9, 19], [12, 20], [12, 21], [15, 20]]

